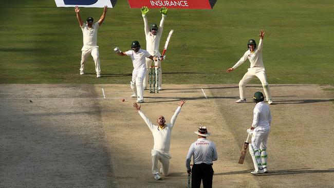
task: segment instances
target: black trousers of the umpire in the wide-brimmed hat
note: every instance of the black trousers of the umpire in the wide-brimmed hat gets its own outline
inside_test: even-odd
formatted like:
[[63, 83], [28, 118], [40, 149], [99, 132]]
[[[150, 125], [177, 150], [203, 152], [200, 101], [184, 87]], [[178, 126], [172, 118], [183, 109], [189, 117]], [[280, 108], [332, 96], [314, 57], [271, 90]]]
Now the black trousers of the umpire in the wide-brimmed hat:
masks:
[[203, 180], [204, 188], [212, 188], [213, 168], [212, 164], [194, 164], [192, 168], [191, 187], [199, 188]]

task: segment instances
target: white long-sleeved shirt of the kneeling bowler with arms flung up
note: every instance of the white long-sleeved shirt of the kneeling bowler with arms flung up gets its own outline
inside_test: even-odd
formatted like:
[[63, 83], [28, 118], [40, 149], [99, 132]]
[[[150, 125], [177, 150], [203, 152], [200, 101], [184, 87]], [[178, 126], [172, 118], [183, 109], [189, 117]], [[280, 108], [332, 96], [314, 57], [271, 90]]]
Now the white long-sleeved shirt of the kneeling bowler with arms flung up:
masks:
[[141, 110], [138, 111], [139, 115], [143, 118], [147, 126], [149, 126], [150, 130], [152, 131], [152, 135], [154, 138], [154, 146], [153, 146], [154, 150], [167, 154], [169, 153], [172, 129], [176, 121], [177, 115], [179, 114], [180, 111], [181, 111], [181, 106], [178, 106], [174, 112], [171, 122], [167, 123], [162, 129], [159, 126], [154, 125], [150, 121], [150, 119], [144, 115], [144, 113]]

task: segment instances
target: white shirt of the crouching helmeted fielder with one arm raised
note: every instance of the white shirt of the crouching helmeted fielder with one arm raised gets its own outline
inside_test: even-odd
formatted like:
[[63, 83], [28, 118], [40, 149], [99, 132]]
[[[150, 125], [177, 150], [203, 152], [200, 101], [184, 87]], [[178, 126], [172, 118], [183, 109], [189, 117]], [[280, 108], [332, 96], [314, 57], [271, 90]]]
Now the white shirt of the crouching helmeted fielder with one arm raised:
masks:
[[264, 69], [265, 66], [263, 65], [263, 59], [262, 59], [262, 47], [263, 47], [263, 40], [260, 39], [260, 42], [258, 46], [254, 49], [253, 52], [250, 50], [247, 50], [243, 57], [240, 58], [238, 62], [233, 66], [234, 69], [236, 69], [239, 65], [243, 64], [247, 59], [250, 61], [250, 68], [262, 68]]

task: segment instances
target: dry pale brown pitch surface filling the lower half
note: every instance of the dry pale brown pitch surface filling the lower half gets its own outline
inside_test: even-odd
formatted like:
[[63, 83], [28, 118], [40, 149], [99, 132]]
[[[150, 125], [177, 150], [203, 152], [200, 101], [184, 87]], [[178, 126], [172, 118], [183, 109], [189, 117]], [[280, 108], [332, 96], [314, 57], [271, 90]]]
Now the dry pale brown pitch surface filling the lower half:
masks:
[[[238, 87], [164, 85], [141, 105], [173, 129], [170, 176], [151, 175], [153, 137], [133, 108], [129, 85], [12, 84], [0, 87], [0, 187], [187, 187], [185, 156], [199, 125], [218, 150], [214, 187], [334, 187], [333, 92], [318, 85], [271, 85], [269, 174], [253, 176], [249, 154], [238, 164], [252, 122], [252, 93]], [[124, 98], [125, 102], [121, 102]]]

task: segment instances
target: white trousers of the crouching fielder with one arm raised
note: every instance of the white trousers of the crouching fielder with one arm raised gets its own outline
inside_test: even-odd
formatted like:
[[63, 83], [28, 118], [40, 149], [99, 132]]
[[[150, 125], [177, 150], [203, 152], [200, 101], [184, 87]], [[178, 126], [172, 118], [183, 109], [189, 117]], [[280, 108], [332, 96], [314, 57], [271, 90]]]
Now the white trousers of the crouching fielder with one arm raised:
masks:
[[270, 92], [269, 84], [267, 82], [266, 72], [264, 68], [256, 68], [256, 67], [249, 68], [246, 74], [244, 75], [243, 79], [240, 80], [239, 82], [240, 99], [246, 99], [245, 97], [246, 96], [245, 95], [246, 85], [254, 77], [257, 77], [261, 81], [267, 101], [271, 99], [271, 92]]

